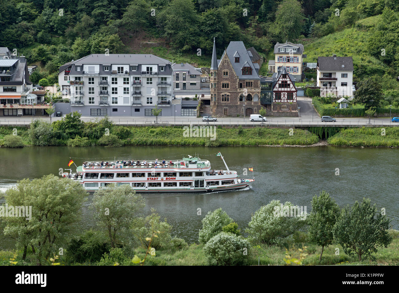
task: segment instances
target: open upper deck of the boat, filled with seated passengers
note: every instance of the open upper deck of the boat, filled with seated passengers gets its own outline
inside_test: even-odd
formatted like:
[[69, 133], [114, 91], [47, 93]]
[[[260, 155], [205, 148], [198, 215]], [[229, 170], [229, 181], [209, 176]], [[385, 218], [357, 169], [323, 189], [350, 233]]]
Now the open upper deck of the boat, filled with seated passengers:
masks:
[[121, 160], [121, 161], [86, 161], [83, 162], [83, 170], [91, 169], [210, 169], [211, 164], [207, 160], [199, 158], [183, 158], [181, 160]]

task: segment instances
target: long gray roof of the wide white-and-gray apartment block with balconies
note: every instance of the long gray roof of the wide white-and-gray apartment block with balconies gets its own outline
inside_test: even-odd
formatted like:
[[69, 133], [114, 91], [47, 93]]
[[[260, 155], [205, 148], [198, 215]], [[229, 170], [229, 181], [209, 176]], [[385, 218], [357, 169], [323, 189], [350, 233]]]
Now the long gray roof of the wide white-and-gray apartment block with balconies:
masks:
[[157, 64], [165, 66], [166, 64], [172, 64], [169, 60], [152, 54], [90, 54], [77, 61], [72, 62], [74, 65], [83, 64], [129, 64], [137, 66], [139, 64]]

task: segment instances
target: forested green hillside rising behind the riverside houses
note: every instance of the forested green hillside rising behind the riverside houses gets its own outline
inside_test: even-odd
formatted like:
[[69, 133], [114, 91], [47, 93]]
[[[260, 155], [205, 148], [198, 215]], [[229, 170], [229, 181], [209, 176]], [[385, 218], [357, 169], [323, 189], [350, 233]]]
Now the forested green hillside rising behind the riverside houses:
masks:
[[241, 40], [271, 57], [275, 43], [294, 41], [304, 43], [305, 62], [332, 53], [352, 56], [357, 81], [399, 75], [399, 0], [0, 0], [0, 5], [0, 45], [40, 66], [34, 82], [41, 77], [56, 82], [60, 65], [106, 50], [209, 66], [213, 37], [218, 54]]

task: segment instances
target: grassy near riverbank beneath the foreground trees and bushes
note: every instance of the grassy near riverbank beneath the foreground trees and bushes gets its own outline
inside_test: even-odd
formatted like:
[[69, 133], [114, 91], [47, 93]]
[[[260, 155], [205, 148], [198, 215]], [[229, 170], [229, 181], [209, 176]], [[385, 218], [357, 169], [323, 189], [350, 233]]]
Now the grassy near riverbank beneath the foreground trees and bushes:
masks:
[[[306, 241], [306, 234], [298, 233], [298, 237], [294, 237], [293, 243], [288, 249], [288, 253], [292, 256], [298, 254], [298, 248], [306, 246], [308, 256], [303, 260], [304, 265], [350, 265], [350, 264], [383, 264], [383, 265], [399, 265], [399, 231], [389, 230], [389, 234], [393, 237], [391, 244], [387, 248], [379, 248], [374, 254], [375, 260], [364, 258], [361, 262], [357, 257], [351, 257], [344, 253], [343, 248], [336, 243], [324, 248], [321, 263], [318, 259], [320, 256], [321, 247]], [[303, 242], [302, 242], [303, 241]], [[339, 248], [339, 255], [336, 255], [336, 248]], [[135, 252], [138, 257], [144, 258], [144, 248], [137, 249]], [[9, 265], [9, 259], [16, 255], [16, 265], [34, 265], [27, 260], [21, 261], [22, 251], [0, 251], [0, 265]], [[246, 265], [286, 265], [284, 258], [286, 256], [285, 247], [258, 245], [253, 246], [248, 250], [248, 258]], [[61, 265], [65, 265], [65, 259], [60, 257]], [[102, 262], [102, 265], [113, 265], [112, 258], [107, 262]], [[127, 256], [122, 256], [117, 259], [119, 265], [134, 265], [131, 259]], [[98, 265], [98, 262], [73, 264], [73, 265]], [[158, 250], [156, 256], [148, 256], [144, 265], [208, 265], [207, 257], [203, 251], [203, 244], [191, 244], [187, 248], [181, 250]]]

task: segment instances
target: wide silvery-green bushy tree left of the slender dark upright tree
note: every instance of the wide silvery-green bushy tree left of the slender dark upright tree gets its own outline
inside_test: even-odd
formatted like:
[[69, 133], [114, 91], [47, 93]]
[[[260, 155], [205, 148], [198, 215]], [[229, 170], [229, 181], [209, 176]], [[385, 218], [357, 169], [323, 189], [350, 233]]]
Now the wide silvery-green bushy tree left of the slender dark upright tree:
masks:
[[294, 211], [297, 212], [296, 207], [288, 201], [282, 206], [277, 200], [262, 206], [253, 214], [245, 230], [249, 234], [249, 241], [282, 245], [286, 237], [306, 225], [305, 214], [300, 216], [296, 213], [296, 216], [293, 216]]

